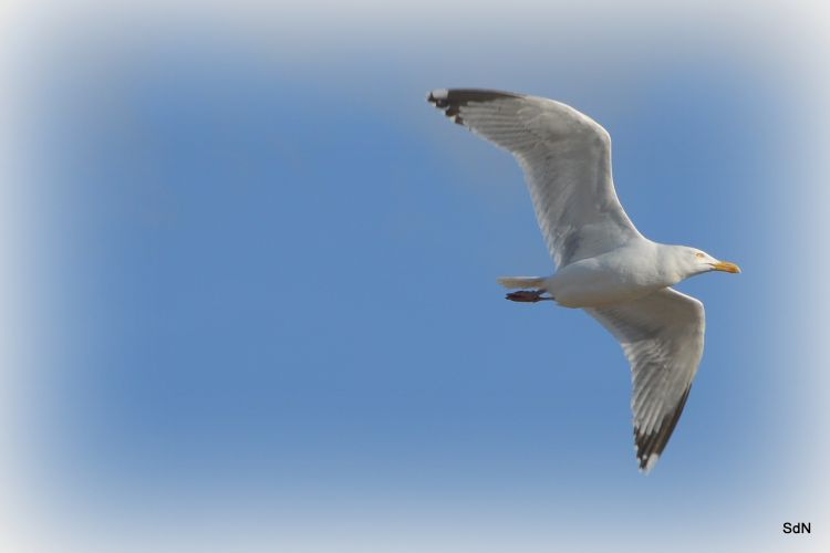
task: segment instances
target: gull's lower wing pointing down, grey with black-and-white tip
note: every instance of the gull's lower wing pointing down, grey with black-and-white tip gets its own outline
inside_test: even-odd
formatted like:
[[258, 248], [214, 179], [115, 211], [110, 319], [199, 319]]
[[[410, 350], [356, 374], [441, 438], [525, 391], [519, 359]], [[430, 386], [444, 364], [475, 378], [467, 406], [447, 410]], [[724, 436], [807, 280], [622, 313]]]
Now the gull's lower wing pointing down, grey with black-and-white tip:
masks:
[[703, 355], [703, 303], [665, 288], [610, 307], [585, 310], [620, 341], [631, 363], [640, 468], [657, 462], [683, 413]]

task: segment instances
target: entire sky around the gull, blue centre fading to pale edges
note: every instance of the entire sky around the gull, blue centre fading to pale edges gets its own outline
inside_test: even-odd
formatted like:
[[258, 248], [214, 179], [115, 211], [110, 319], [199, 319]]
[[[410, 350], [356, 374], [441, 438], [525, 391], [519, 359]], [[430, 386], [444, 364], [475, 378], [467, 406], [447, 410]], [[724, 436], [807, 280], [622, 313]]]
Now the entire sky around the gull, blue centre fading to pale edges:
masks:
[[[816, 12], [367, 6], [19, 15], [19, 551], [818, 546], [780, 532], [827, 525]], [[447, 86], [589, 114], [640, 230], [744, 269], [679, 286], [706, 352], [649, 478], [614, 340], [504, 301], [551, 262]]]

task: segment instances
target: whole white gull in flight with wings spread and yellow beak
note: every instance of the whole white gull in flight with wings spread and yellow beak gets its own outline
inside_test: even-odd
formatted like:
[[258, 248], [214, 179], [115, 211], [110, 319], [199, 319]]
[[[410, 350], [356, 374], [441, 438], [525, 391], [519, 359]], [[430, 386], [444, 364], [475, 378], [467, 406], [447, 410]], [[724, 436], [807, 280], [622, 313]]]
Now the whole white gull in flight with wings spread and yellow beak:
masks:
[[510, 152], [523, 169], [557, 272], [499, 283], [523, 289], [508, 300], [581, 307], [620, 342], [632, 371], [636, 456], [647, 473], [672, 436], [703, 355], [703, 304], [671, 286], [740, 269], [696, 248], [643, 237], [616, 198], [608, 132], [577, 109], [485, 90], [436, 90], [427, 100]]

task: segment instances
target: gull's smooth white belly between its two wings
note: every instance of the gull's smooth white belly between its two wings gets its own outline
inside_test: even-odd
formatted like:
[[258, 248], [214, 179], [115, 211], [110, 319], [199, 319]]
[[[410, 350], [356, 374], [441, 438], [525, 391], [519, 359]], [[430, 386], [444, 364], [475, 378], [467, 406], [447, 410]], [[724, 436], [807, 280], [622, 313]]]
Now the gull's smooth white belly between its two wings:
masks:
[[672, 284], [658, 274], [643, 271], [642, 265], [601, 255], [560, 269], [546, 280], [544, 288], [566, 307], [595, 307], [636, 300]]

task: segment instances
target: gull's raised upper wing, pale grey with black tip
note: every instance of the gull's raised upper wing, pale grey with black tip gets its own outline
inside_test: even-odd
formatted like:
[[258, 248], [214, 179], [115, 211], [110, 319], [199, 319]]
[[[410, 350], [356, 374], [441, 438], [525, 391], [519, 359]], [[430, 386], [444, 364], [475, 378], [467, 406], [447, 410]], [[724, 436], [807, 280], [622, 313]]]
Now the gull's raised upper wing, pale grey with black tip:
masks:
[[436, 90], [427, 100], [516, 156], [557, 267], [640, 237], [614, 191], [611, 138], [590, 117], [552, 100], [507, 92]]

